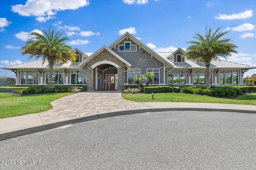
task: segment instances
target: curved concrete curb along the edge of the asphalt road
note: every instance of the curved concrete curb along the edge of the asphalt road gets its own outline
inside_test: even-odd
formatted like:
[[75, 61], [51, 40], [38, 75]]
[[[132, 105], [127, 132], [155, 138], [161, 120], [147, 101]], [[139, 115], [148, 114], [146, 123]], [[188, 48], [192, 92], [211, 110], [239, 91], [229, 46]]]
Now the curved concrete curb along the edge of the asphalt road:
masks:
[[5, 139], [10, 139], [13, 137], [27, 135], [30, 133], [53, 129], [56, 127], [61, 127], [61, 126], [70, 125], [70, 124], [74, 124], [74, 123], [80, 123], [80, 122], [84, 122], [84, 121], [90, 121], [90, 120], [119, 116], [119, 115], [130, 115], [130, 114], [136, 114], [136, 113], [157, 112], [157, 111], [226, 111], [226, 112], [256, 114], [256, 111], [253, 111], [253, 110], [214, 109], [214, 108], [151, 108], [151, 109], [114, 111], [114, 112], [101, 113], [101, 114], [96, 114], [96, 115], [89, 115], [89, 116], [85, 116], [85, 117], [78, 117], [78, 118], [74, 118], [74, 119], [68, 119], [66, 121], [46, 123], [46, 124], [42, 124], [42, 125], [35, 125], [32, 127], [25, 127], [25, 128], [18, 129], [18, 130], [14, 129], [11, 131], [2, 132], [2, 133], [0, 133], [0, 141], [5, 140]]

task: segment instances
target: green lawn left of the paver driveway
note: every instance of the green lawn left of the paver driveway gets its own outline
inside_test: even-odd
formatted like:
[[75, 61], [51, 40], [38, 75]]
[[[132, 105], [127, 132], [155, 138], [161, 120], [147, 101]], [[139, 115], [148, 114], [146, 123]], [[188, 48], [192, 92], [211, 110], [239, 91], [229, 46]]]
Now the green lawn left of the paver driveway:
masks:
[[50, 102], [73, 93], [33, 94], [14, 97], [0, 93], [0, 118], [40, 113], [52, 109]]

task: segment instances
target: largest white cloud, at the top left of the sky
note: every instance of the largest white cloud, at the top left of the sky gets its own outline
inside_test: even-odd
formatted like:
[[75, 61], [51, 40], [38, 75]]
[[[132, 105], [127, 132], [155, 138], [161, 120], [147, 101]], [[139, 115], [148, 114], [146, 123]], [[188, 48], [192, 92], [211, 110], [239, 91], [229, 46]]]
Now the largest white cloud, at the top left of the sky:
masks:
[[20, 16], [36, 16], [39, 22], [46, 22], [54, 18], [58, 11], [77, 10], [80, 7], [89, 5], [89, 0], [28, 0], [25, 5], [17, 4], [11, 6], [12, 12]]

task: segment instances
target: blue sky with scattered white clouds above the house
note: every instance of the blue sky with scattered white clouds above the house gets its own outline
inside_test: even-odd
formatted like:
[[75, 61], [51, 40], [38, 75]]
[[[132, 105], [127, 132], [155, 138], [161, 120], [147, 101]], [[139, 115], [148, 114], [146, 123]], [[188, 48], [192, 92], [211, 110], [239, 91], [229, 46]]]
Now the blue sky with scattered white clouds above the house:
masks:
[[[49, 26], [72, 48], [95, 52], [126, 31], [156, 52], [186, 49], [206, 25], [228, 31], [239, 48], [228, 61], [256, 66], [256, 1], [252, 0], [0, 0], [0, 66], [28, 62], [19, 48]], [[244, 76], [251, 76], [256, 69]], [[15, 77], [10, 70], [0, 75]]]

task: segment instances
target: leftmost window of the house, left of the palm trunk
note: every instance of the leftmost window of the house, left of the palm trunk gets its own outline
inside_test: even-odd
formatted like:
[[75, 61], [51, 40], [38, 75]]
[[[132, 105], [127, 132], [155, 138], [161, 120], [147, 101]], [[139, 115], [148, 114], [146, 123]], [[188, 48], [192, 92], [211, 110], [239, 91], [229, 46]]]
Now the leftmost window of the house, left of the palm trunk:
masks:
[[39, 71], [21, 71], [21, 84], [38, 84]]

